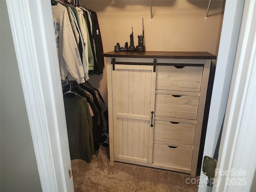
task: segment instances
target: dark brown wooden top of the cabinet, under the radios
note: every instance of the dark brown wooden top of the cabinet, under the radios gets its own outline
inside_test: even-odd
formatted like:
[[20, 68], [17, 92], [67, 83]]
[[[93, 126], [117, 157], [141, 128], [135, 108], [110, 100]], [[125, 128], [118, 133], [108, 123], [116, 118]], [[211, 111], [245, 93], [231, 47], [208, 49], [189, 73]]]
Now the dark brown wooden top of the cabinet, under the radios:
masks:
[[132, 58], [164, 58], [164, 59], [216, 59], [209, 52], [172, 52], [172, 51], [112, 51], [103, 54], [104, 57], [132, 57]]

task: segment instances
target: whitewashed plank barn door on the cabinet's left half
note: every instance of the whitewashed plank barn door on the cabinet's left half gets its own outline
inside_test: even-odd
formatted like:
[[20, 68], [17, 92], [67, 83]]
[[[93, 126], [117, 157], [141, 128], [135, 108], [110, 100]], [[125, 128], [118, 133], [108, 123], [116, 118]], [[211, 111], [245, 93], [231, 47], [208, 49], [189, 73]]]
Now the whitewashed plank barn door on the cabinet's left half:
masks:
[[150, 107], [152, 89], [152, 66], [116, 65], [117, 140], [115, 158], [148, 163], [150, 136]]

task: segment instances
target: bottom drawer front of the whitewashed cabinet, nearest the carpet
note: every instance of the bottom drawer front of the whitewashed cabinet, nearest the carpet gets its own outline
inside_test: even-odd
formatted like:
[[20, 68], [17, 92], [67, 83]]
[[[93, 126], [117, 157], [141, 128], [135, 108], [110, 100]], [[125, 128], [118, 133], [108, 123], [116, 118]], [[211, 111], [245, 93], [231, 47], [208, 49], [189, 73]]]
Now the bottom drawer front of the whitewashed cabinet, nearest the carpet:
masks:
[[192, 149], [154, 144], [153, 163], [190, 169], [192, 154]]

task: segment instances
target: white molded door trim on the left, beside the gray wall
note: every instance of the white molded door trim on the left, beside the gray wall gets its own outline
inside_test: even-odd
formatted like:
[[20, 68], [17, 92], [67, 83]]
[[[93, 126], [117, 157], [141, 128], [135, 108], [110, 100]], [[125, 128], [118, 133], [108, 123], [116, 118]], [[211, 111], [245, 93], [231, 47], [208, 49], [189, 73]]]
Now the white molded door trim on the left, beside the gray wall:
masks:
[[50, 0], [6, 4], [42, 191], [74, 191]]

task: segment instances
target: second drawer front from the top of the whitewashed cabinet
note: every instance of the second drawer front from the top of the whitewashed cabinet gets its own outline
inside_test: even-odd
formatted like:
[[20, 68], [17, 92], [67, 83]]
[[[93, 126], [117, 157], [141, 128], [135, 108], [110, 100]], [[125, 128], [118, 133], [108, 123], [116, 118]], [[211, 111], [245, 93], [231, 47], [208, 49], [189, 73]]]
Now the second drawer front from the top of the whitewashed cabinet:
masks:
[[155, 116], [196, 120], [199, 97], [156, 94]]

